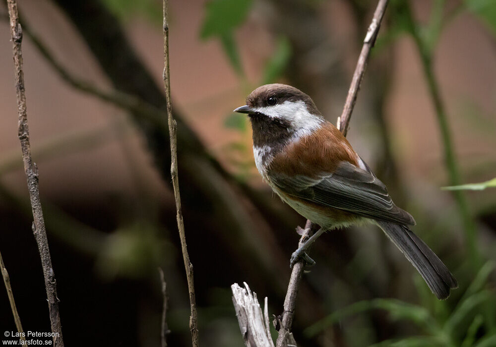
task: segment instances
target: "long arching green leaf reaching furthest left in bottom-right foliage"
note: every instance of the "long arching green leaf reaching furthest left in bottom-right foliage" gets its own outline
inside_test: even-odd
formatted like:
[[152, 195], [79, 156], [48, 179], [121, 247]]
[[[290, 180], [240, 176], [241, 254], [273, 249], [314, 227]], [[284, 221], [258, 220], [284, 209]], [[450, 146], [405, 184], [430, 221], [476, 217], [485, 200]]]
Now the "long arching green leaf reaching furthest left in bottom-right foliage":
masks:
[[396, 299], [373, 299], [369, 301], [359, 301], [337, 310], [305, 329], [303, 333], [305, 336], [311, 338], [331, 324], [337, 323], [351, 315], [372, 309], [388, 311], [393, 320], [406, 319], [424, 327], [426, 330], [433, 331], [433, 329], [436, 329], [434, 319], [424, 307], [412, 305]]

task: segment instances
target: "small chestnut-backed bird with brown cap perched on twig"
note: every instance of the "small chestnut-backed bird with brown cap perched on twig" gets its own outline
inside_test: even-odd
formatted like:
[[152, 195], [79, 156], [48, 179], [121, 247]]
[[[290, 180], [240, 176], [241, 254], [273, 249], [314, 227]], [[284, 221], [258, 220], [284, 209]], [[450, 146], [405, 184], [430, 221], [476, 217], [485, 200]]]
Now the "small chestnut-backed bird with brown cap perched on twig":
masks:
[[438, 299], [457, 288], [455, 278], [411, 231], [415, 220], [397, 207], [386, 186], [311, 98], [286, 84], [266, 84], [234, 112], [248, 114], [255, 165], [263, 179], [299, 214], [320, 226], [291, 257], [314, 262], [306, 250], [323, 232], [354, 224], [381, 228]]

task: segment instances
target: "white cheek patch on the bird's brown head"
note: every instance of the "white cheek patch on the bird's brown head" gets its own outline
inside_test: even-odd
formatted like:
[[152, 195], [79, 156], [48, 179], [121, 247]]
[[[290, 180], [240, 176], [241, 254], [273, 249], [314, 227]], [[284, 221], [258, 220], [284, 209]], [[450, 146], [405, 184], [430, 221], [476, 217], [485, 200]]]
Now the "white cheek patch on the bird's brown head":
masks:
[[295, 137], [310, 135], [314, 130], [320, 128], [324, 121], [320, 116], [311, 114], [303, 101], [285, 101], [282, 104], [259, 107], [255, 109], [265, 116], [275, 119], [287, 120], [294, 130]]

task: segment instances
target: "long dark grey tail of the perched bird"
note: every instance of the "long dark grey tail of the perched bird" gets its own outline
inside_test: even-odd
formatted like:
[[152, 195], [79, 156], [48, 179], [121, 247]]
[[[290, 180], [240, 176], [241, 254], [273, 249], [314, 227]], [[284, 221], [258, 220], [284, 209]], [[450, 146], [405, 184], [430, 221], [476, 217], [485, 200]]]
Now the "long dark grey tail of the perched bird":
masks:
[[376, 223], [415, 266], [438, 299], [446, 299], [450, 289], [458, 288], [446, 265], [408, 227], [383, 221]]

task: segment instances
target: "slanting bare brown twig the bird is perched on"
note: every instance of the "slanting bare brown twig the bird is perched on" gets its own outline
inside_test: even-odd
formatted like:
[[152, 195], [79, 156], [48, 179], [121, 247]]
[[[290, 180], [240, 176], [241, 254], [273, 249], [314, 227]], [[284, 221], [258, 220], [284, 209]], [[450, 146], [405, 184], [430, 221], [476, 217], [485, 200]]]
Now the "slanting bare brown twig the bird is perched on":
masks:
[[[348, 132], [348, 124], [350, 122], [350, 116], [353, 112], [355, 102], [357, 100], [358, 90], [360, 89], [360, 83], [367, 68], [367, 61], [370, 57], [370, 52], [377, 37], [379, 31], [380, 22], [384, 16], [388, 0], [379, 0], [377, 7], [375, 8], [372, 23], [369, 26], [367, 35], [365, 36], [364, 45], [362, 47], [362, 52], [358, 58], [357, 66], [355, 68], [355, 73], [353, 74], [353, 79], [348, 91], [348, 97], [343, 108], [343, 113], [337, 120], [337, 127], [346, 136]], [[310, 220], [307, 221], [305, 226], [306, 232], [302, 235], [300, 239], [300, 244], [302, 241], [311, 236], [311, 230], [313, 225]], [[298, 287], [303, 275], [303, 269], [305, 267], [304, 260], [301, 260], [295, 264], [293, 271], [291, 272], [291, 279], [288, 285], [288, 291], [286, 292], [286, 298], [284, 300], [284, 311], [282, 313], [281, 329], [279, 330], [279, 336], [277, 338], [277, 347], [287, 346], [286, 335], [291, 331], [291, 325], [293, 323], [294, 309], [296, 306], [296, 297], [298, 295]]]

